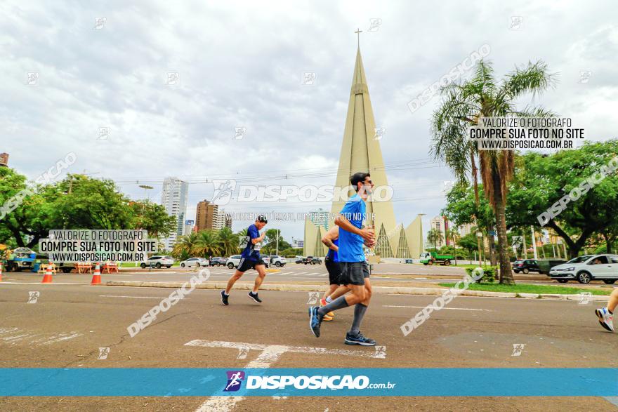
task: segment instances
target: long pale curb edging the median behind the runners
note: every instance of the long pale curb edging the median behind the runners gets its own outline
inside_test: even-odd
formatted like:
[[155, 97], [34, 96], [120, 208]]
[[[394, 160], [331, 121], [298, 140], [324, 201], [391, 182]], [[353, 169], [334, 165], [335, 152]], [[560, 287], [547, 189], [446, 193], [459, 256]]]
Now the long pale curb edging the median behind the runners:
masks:
[[[180, 288], [185, 282], [179, 281], [107, 281], [107, 286], [135, 286], [142, 288]], [[227, 282], [204, 282], [196, 285], [197, 289], [225, 289]], [[235, 289], [249, 291], [253, 284], [235, 284]], [[323, 292], [323, 285], [286, 285], [286, 284], [262, 284], [262, 291], [287, 291], [287, 292]], [[374, 293], [393, 295], [442, 295], [447, 288], [408, 288], [397, 286], [374, 286]], [[582, 295], [559, 295], [551, 293], [513, 293], [513, 292], [485, 292], [485, 291], [461, 291], [460, 296], [476, 296], [485, 298], [523, 298], [523, 299], [551, 299], [551, 300], [582, 300]], [[590, 295], [588, 300], [607, 301], [610, 296]]]

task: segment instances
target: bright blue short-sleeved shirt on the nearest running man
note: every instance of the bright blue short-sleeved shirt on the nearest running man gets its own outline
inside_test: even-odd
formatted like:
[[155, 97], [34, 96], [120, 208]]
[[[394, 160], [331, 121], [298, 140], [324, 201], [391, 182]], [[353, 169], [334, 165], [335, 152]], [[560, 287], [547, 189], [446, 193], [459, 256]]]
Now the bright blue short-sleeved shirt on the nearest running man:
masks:
[[[359, 229], [362, 227], [362, 221], [365, 218], [367, 206], [364, 200], [358, 194], [350, 197], [346, 201], [346, 205], [341, 209], [341, 214], [350, 223]], [[362, 251], [364, 239], [362, 236], [355, 233], [350, 233], [339, 227], [339, 262], [364, 262], [366, 260]]]

